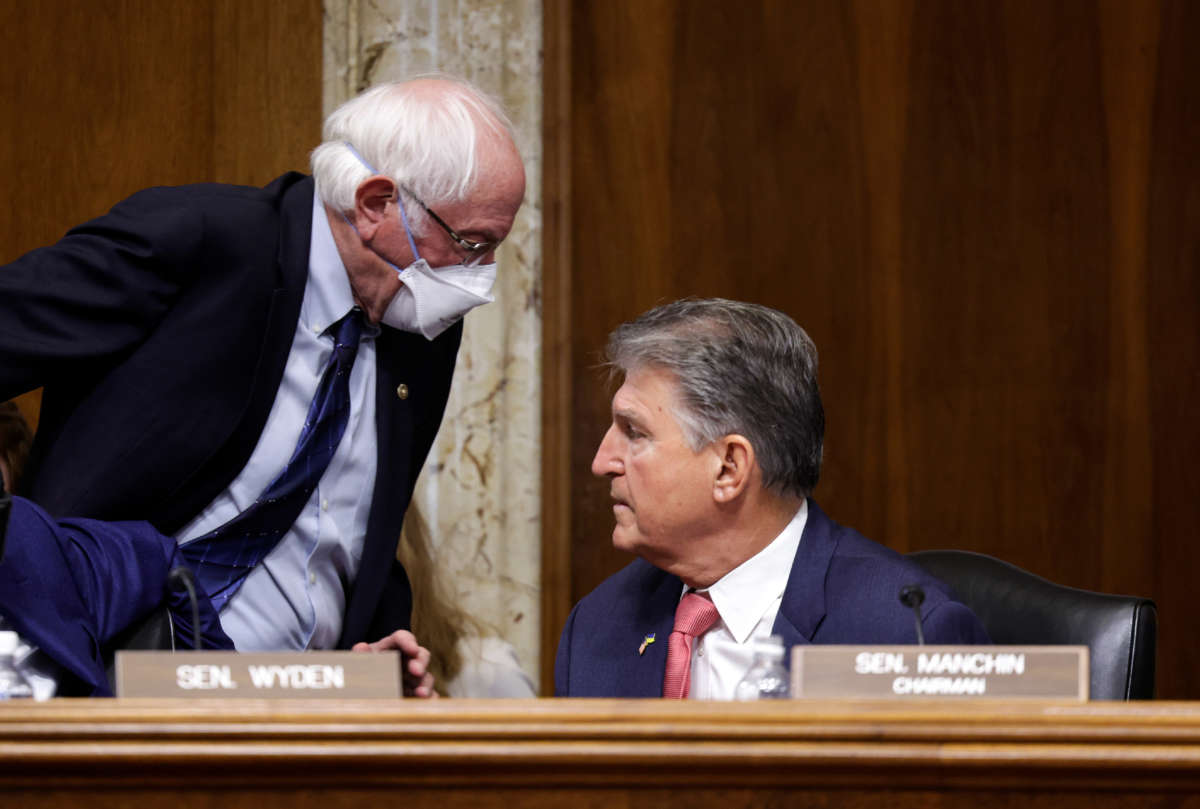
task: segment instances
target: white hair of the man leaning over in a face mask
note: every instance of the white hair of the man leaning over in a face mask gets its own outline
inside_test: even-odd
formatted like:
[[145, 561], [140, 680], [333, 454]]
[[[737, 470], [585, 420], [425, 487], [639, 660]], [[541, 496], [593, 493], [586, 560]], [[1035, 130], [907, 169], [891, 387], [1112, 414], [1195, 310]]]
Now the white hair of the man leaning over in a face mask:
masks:
[[[355, 191], [372, 174], [391, 178], [431, 206], [457, 202], [479, 175], [480, 126], [515, 139], [504, 110], [482, 90], [445, 76], [421, 78], [437, 84], [379, 84], [330, 113], [323, 143], [310, 157], [322, 202], [352, 211]], [[415, 204], [404, 210], [420, 232], [425, 211]]]

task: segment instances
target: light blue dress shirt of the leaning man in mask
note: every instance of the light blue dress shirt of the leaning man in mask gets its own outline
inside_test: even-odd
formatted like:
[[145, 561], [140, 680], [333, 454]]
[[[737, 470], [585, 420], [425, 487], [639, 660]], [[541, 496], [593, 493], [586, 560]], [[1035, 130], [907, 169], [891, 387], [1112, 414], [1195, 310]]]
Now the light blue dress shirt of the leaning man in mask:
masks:
[[[308, 280], [287, 367], [258, 445], [229, 487], [175, 537], [180, 544], [245, 510], [292, 457], [308, 404], [334, 352], [324, 334], [350, 308], [350, 283], [320, 199], [313, 198]], [[350, 372], [350, 419], [312, 498], [278, 545], [221, 610], [239, 651], [328, 649], [337, 645], [346, 592], [362, 558], [376, 479], [376, 347], [364, 330]]]

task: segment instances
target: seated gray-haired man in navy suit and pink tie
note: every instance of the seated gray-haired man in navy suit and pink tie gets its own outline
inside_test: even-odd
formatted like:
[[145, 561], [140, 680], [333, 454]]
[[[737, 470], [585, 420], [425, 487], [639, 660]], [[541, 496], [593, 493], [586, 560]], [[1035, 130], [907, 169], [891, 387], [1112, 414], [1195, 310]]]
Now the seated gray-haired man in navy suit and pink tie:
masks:
[[613, 545], [641, 558], [568, 618], [559, 696], [664, 696], [684, 603], [702, 604], [709, 628], [671, 696], [732, 699], [769, 635], [786, 647], [912, 643], [906, 585], [925, 591], [929, 642], [988, 642], [943, 585], [810, 498], [824, 412], [816, 348], [791, 318], [682, 300], [619, 326], [607, 353], [624, 384], [592, 471], [611, 480]]

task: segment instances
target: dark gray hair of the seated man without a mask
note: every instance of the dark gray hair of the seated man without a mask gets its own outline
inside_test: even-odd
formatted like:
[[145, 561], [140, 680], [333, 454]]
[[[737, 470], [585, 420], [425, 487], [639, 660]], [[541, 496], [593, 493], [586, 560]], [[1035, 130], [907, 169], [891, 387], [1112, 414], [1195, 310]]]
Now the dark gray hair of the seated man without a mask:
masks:
[[755, 449], [763, 484], [806, 497], [821, 477], [824, 408], [817, 349], [782, 312], [721, 298], [689, 298], [608, 336], [608, 366], [659, 368], [676, 379], [676, 419], [694, 451], [731, 433]]

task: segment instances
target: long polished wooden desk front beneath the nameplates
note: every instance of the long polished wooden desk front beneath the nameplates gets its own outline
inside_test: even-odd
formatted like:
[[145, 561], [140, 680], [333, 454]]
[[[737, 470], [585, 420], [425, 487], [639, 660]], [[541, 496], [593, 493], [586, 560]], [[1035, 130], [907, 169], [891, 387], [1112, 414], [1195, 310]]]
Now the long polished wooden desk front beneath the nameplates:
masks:
[[0, 703], [0, 802], [1200, 808], [1200, 703]]

